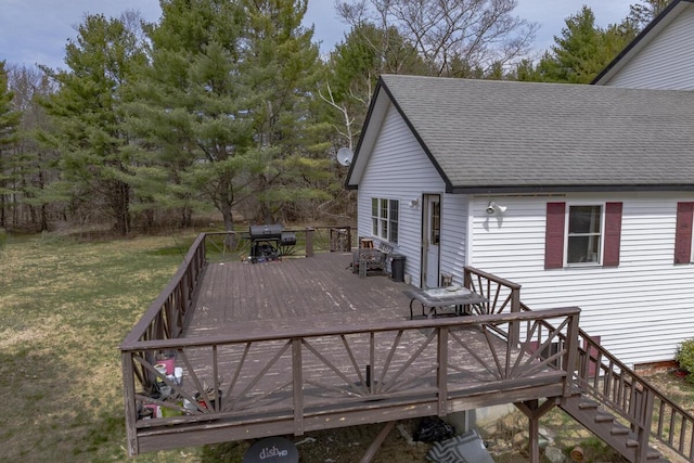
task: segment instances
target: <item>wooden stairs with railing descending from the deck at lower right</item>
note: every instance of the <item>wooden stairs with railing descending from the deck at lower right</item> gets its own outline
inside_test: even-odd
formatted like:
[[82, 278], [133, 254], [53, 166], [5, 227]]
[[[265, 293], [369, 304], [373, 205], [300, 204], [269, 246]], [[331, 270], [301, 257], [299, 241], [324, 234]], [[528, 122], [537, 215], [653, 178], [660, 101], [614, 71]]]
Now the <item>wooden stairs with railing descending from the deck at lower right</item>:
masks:
[[[522, 310], [530, 310], [520, 303]], [[571, 389], [556, 406], [634, 463], [694, 462], [694, 415], [579, 330]]]

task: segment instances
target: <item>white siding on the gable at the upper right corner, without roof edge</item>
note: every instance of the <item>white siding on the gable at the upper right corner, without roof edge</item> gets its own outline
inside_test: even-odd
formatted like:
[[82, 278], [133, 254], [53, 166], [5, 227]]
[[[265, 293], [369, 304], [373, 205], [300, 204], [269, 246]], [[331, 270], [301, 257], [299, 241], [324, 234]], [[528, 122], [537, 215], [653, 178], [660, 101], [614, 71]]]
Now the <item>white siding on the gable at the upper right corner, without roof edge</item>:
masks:
[[603, 85], [692, 90], [694, 89], [693, 43], [694, 8], [687, 5]]

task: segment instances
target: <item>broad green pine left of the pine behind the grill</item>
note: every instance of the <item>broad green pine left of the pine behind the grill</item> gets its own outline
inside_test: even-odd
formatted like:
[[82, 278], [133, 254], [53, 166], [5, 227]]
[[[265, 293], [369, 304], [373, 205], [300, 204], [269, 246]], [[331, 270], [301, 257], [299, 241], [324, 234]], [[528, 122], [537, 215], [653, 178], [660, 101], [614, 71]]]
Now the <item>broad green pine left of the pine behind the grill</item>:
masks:
[[140, 139], [137, 176], [149, 184], [153, 207], [193, 210], [214, 205], [226, 230], [232, 207], [246, 194], [257, 104], [241, 74], [244, 11], [237, 1], [162, 2], [157, 25], [145, 28], [151, 65], [142, 68], [128, 104], [129, 127]]

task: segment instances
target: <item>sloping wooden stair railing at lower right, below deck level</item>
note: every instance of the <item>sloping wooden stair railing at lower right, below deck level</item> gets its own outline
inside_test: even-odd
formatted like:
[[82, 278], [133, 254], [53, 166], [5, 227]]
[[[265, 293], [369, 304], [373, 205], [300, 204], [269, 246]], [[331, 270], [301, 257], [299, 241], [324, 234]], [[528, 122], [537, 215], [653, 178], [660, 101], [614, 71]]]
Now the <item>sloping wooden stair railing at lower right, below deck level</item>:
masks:
[[[522, 304], [524, 311], [530, 309]], [[553, 330], [542, 321], [541, 331]], [[545, 355], [562, 348], [549, 346]], [[574, 369], [577, 390], [587, 394], [616, 413], [628, 427], [641, 449], [653, 436], [687, 461], [694, 461], [694, 416], [665, 397], [656, 387], [605, 350], [588, 333], [578, 331], [578, 361]]]

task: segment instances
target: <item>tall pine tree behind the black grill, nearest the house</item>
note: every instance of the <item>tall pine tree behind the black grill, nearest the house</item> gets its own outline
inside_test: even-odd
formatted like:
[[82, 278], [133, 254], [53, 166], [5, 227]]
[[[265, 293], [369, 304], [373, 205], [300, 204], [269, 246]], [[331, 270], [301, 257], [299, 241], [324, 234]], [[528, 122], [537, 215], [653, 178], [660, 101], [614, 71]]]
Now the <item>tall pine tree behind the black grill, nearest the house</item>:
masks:
[[244, 1], [247, 49], [241, 69], [258, 97], [250, 108], [252, 154], [265, 165], [255, 176], [250, 214], [266, 223], [293, 219], [287, 213], [299, 204], [330, 200], [323, 183], [330, 145], [321, 136], [325, 127], [312, 116], [323, 66], [313, 30], [301, 26], [307, 7], [307, 0]]

